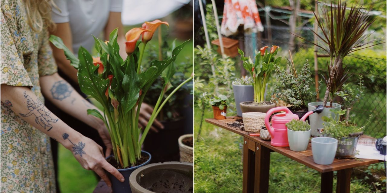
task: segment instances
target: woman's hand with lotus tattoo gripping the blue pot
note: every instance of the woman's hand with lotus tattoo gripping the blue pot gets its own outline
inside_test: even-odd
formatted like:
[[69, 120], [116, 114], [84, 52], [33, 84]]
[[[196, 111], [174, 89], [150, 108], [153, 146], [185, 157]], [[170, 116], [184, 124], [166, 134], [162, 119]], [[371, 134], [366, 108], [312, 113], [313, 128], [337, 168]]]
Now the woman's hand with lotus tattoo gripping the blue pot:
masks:
[[[110, 165], [103, 157], [102, 147], [87, 137], [80, 137], [79, 140], [71, 139], [71, 136], [63, 135], [63, 139], [68, 139], [72, 146], [68, 149], [72, 151], [75, 159], [84, 169], [93, 170], [99, 177], [105, 181], [106, 185], [111, 186], [111, 182], [104, 169], [123, 182], [125, 179], [116, 168]], [[73, 141], [74, 140], [74, 141]]]

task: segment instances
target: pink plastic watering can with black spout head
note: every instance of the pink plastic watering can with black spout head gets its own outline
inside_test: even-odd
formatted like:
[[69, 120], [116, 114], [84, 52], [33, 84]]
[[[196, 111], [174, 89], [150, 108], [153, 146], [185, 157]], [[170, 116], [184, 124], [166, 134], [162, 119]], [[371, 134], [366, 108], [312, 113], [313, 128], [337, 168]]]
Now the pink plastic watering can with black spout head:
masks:
[[[305, 121], [309, 115], [313, 113], [321, 113], [324, 110], [322, 105], [317, 106], [315, 110], [307, 112], [301, 120]], [[276, 114], [271, 118], [271, 126], [269, 124], [270, 116], [275, 112], [285, 111], [285, 114]], [[270, 109], [265, 116], [265, 126], [271, 135], [271, 145], [276, 147], [289, 147], [288, 142], [288, 127], [286, 123], [292, 119], [299, 119], [298, 115], [293, 114], [287, 107], [276, 107]]]

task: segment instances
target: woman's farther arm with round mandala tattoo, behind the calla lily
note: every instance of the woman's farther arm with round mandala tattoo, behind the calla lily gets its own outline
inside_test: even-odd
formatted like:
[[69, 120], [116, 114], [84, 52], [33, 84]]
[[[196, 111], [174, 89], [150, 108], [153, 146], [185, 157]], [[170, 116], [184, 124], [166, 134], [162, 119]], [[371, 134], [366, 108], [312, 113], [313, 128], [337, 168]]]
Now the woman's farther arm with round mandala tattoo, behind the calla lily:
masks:
[[[98, 110], [98, 108], [74, 91], [74, 88], [58, 73], [40, 77], [40, 86], [45, 98], [56, 107], [98, 131], [106, 146], [105, 156], [109, 156], [112, 150], [111, 139], [103, 120], [87, 115], [87, 109]], [[103, 115], [103, 112], [98, 111]]]

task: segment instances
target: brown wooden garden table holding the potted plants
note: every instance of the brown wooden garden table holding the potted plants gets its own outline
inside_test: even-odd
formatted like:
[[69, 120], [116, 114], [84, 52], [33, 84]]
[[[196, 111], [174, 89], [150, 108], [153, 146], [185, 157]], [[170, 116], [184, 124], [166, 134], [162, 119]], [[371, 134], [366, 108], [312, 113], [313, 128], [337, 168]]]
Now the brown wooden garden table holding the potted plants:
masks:
[[[321, 173], [320, 190], [322, 193], [332, 193], [333, 171], [337, 171], [336, 192], [349, 193], [352, 168], [381, 162], [377, 159], [361, 159], [363, 161], [358, 161], [335, 158], [330, 165], [316, 164], [313, 161], [310, 142], [308, 149], [302, 152], [291, 151], [289, 147], [274, 147], [270, 144], [270, 141], [263, 141], [260, 137], [248, 135], [251, 132], [227, 125], [236, 120], [241, 121], [241, 119], [241, 117], [227, 117], [224, 120], [205, 119], [205, 121], [243, 136], [243, 193], [267, 193], [269, 191], [270, 153], [273, 151], [319, 171]], [[360, 137], [372, 138], [367, 135], [361, 135]]]

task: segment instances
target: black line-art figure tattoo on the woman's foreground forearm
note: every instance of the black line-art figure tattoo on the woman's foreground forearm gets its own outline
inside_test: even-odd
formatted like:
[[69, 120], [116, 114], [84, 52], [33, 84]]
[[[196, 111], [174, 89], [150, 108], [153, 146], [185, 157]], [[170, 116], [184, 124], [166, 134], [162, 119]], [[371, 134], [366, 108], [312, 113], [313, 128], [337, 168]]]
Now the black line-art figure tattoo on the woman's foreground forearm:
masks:
[[36, 117], [36, 124], [42, 126], [45, 130], [50, 131], [52, 129], [50, 122], [56, 123], [58, 119], [53, 119], [50, 116], [50, 110], [48, 110], [39, 99], [34, 102], [34, 100], [32, 100], [32, 98], [26, 94], [26, 91], [24, 91], [24, 98], [27, 100], [27, 108], [29, 112], [26, 114], [20, 113], [20, 115], [22, 117], [29, 117], [34, 115]]

